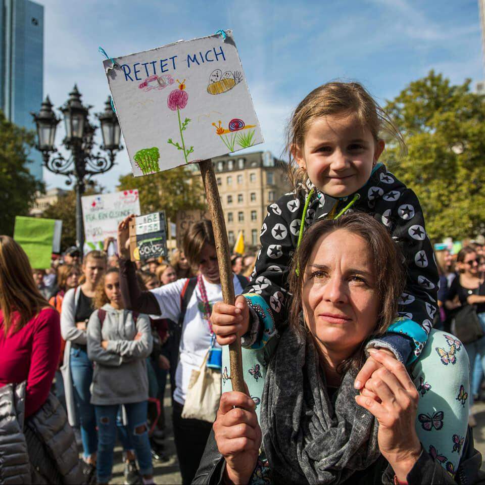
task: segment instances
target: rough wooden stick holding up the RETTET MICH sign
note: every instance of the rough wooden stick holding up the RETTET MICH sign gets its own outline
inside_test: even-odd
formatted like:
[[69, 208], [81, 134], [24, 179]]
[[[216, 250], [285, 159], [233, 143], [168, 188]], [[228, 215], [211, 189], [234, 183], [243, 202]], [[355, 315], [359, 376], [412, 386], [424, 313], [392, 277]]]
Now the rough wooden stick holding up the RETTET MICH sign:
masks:
[[[224, 303], [234, 305], [234, 284], [232, 282], [231, 256], [229, 241], [227, 240], [226, 223], [222, 211], [221, 198], [217, 188], [216, 175], [212, 160], [203, 160], [201, 167], [202, 183], [206, 191], [207, 205], [212, 219], [214, 239], [216, 241], [217, 262], [219, 263], [219, 275], [221, 278], [222, 299]], [[241, 356], [241, 342], [239, 338], [229, 344], [229, 362], [231, 366], [232, 390], [246, 393], [243, 377], [243, 358]]]

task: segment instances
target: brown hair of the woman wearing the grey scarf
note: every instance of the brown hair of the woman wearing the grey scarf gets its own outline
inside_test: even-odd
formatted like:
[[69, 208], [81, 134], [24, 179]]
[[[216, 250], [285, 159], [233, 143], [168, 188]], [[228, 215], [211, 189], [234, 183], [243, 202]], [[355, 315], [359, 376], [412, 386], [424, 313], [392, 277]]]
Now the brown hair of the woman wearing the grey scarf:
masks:
[[[381, 335], [393, 323], [398, 312], [398, 301], [405, 283], [403, 255], [398, 245], [382, 224], [363, 212], [354, 212], [338, 219], [320, 220], [304, 233], [300, 247], [293, 258], [289, 272], [289, 291], [293, 295], [289, 308], [289, 324], [296, 331], [305, 332], [300, 323], [302, 288], [310, 256], [320, 238], [338, 229], [362, 237], [367, 243], [374, 265], [374, 279], [380, 302], [377, 322], [372, 335]], [[298, 270], [300, 268], [300, 270]], [[363, 346], [343, 365], [359, 368], [363, 365]]]

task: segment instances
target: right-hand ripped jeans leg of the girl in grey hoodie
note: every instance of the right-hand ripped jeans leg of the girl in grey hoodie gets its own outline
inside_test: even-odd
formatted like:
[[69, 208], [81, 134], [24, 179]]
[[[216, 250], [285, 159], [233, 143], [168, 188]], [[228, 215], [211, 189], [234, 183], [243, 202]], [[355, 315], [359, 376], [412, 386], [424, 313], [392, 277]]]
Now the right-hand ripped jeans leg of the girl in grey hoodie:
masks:
[[128, 429], [132, 431], [133, 446], [138, 458], [140, 474], [144, 478], [153, 476], [152, 453], [148, 438], [147, 401], [125, 404]]

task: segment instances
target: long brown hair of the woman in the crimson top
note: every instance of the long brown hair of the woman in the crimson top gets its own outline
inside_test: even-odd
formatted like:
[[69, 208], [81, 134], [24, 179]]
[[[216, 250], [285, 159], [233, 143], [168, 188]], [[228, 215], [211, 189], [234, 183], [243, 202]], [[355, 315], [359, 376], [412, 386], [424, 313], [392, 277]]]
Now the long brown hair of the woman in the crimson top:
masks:
[[0, 308], [4, 314], [4, 332], [12, 327], [12, 312], [17, 311], [13, 331], [20, 330], [49, 304], [37, 289], [32, 268], [24, 250], [9, 236], [0, 236]]

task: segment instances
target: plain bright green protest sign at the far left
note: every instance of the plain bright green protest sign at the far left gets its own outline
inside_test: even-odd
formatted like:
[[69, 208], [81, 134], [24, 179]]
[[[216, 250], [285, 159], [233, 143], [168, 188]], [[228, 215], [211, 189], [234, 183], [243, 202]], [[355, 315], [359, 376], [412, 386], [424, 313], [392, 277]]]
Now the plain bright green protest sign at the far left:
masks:
[[33, 269], [51, 267], [52, 253], [61, 252], [62, 221], [38, 217], [15, 218], [14, 239], [27, 254]]

